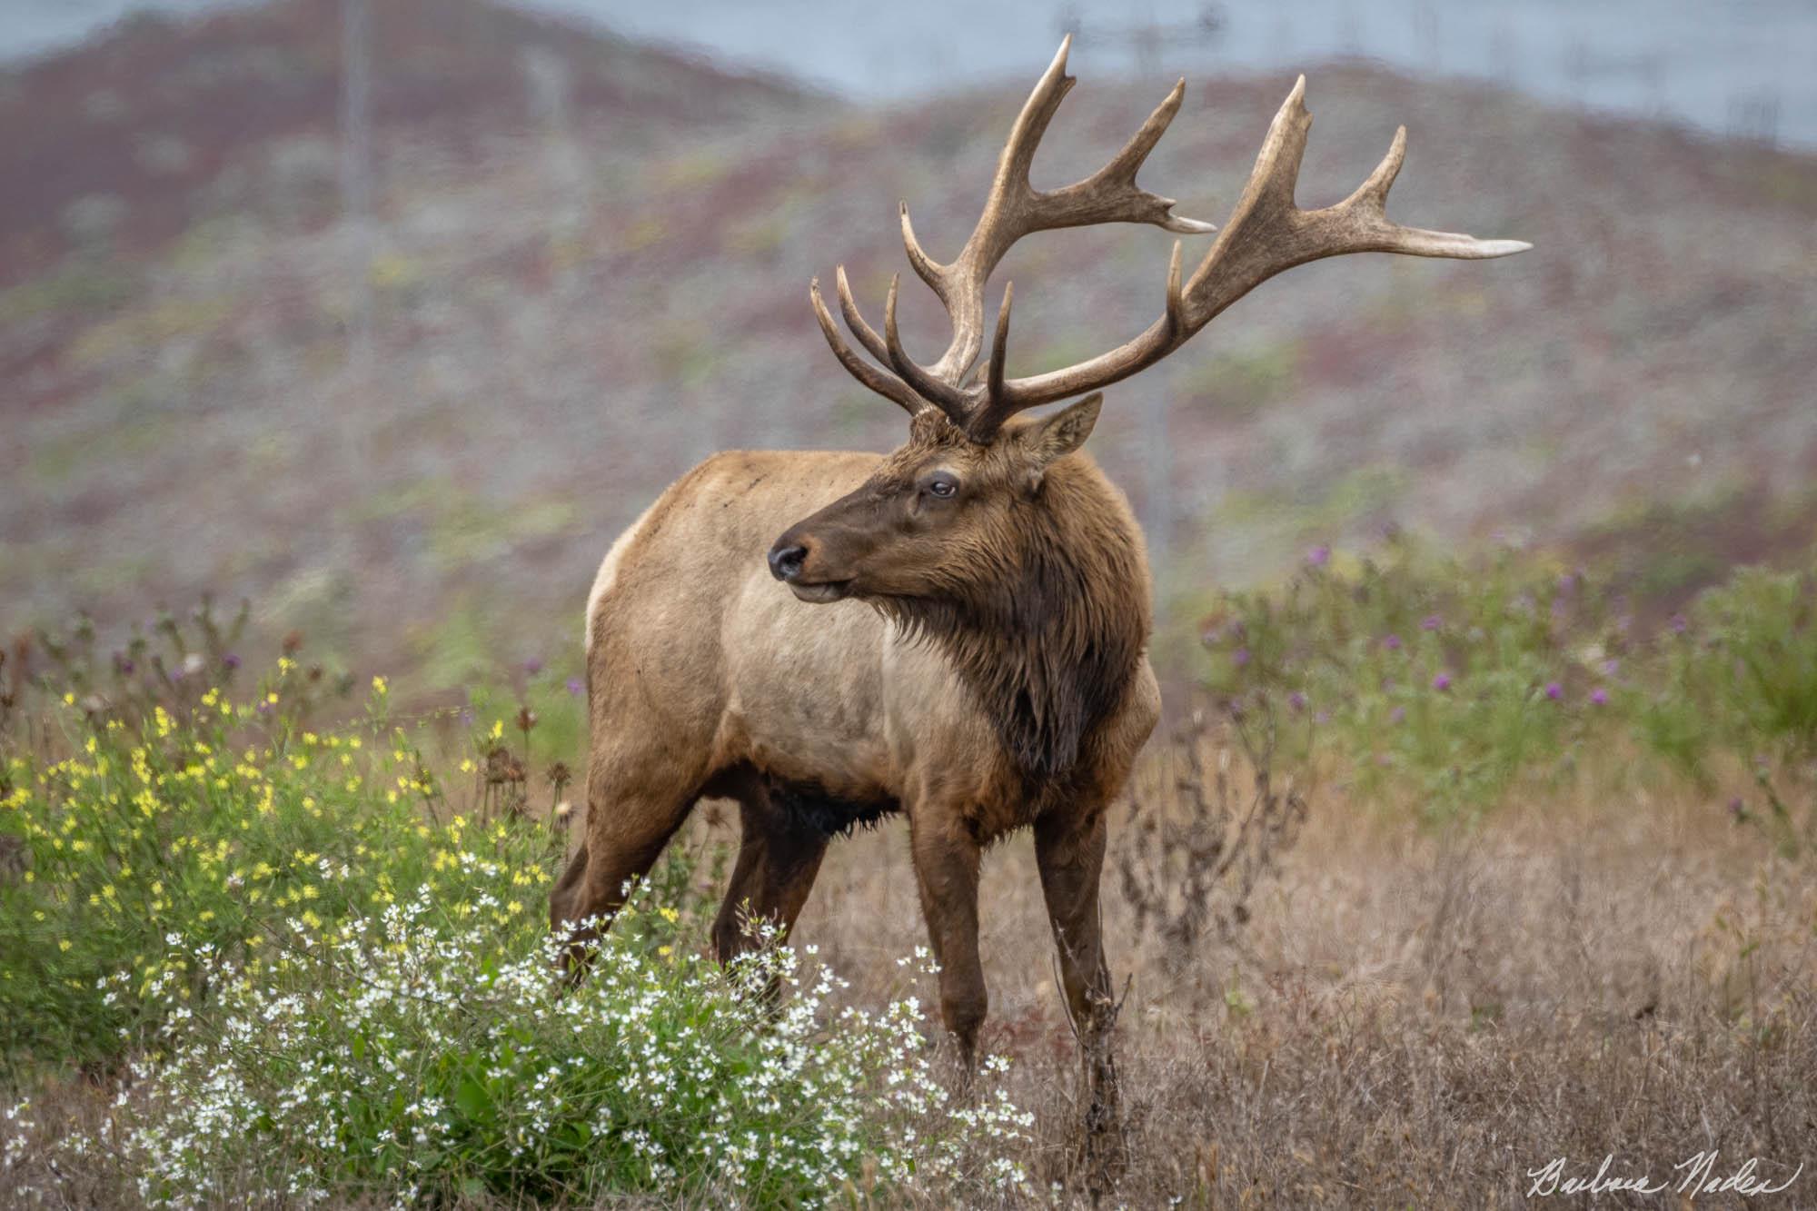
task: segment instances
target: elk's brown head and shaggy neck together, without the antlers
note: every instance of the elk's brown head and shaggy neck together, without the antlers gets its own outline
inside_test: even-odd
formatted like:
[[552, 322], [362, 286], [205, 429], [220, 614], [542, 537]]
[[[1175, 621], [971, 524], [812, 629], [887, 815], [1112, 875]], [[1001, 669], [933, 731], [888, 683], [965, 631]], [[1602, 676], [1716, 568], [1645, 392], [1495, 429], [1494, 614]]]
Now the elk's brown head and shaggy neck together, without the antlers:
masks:
[[1148, 565], [1121, 495], [1074, 453], [1090, 396], [976, 444], [923, 411], [856, 491], [790, 525], [770, 567], [938, 646], [1025, 780], [1072, 769], [1148, 642]]

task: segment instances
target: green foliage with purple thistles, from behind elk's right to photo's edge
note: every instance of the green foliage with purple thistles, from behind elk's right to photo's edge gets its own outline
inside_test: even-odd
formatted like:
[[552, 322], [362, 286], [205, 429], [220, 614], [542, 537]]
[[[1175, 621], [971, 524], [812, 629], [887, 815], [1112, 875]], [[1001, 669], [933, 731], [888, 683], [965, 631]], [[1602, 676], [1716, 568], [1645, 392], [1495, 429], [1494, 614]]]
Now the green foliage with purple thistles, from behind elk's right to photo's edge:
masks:
[[[1761, 818], [1784, 822], [1788, 787], [1817, 758], [1813, 615], [1812, 571], [1741, 569], [1688, 620], [1639, 636], [1581, 571], [1394, 540], [1348, 565], [1317, 549], [1277, 591], [1223, 595], [1205, 642], [1208, 686], [1234, 711], [1301, 716], [1303, 758], [1335, 758], [1357, 793], [1428, 818], [1483, 811], [1617, 746], [1706, 789], [1743, 764]], [[1741, 798], [1733, 809], [1748, 815]], [[1775, 824], [1793, 846], [1788, 827]]]

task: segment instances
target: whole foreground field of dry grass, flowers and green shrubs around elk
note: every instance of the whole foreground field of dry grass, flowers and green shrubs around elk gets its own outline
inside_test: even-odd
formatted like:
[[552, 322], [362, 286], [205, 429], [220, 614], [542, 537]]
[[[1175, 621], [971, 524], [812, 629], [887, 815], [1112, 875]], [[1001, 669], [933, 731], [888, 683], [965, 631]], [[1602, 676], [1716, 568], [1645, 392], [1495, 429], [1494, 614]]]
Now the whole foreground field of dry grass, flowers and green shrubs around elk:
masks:
[[[1617, 676], [1584, 638], [1619, 618], [1524, 626], [1550, 571], [1308, 564], [1297, 587], [1226, 598], [1208, 642], [1254, 642], [1228, 660], [1250, 680], [1206, 689], [1117, 806], [1103, 906], [1127, 1166], [1108, 1173], [1074, 1162], [1077, 1060], [1025, 838], [987, 860], [983, 1044], [1001, 1060], [967, 1098], [923, 1009], [899, 827], [838, 844], [792, 947], [723, 976], [705, 929], [736, 826], [707, 804], [560, 996], [541, 913], [567, 836], [563, 686], [414, 716], [380, 680], [349, 715], [300, 655], [249, 693], [213, 620], [189, 666], [236, 689], [102, 675], [80, 644], [36, 656], [38, 678], [9, 682], [0, 787], [13, 1198], [1524, 1206], [1608, 1156], [1630, 1182], [1610, 1206], [1732, 1206], [1750, 1184], [1750, 1202], [1804, 1206], [1817, 662], [1808, 595], [1775, 589], [1810, 573], [1739, 573], [1630, 638]], [[1434, 602], [1477, 624], [1428, 653], [1368, 638]], [[1512, 629], [1481, 626], [1497, 611]], [[1346, 633], [1366, 640], [1350, 656], [1326, 642]], [[1321, 684], [1294, 673], [1312, 638], [1365, 682], [1354, 662], [1385, 649], [1443, 655], [1454, 675], [1423, 687], [1459, 713], [1441, 764], [1504, 776], [1434, 793], [1479, 784], [1388, 731], [1443, 718], [1372, 733], [1375, 689], [1299, 698]], [[1575, 720], [1494, 733], [1514, 667], [1519, 715]], [[1703, 731], [1661, 729], [1692, 686]], [[1310, 718], [1319, 736], [1294, 742]], [[752, 993], [770, 978], [776, 1009]]]

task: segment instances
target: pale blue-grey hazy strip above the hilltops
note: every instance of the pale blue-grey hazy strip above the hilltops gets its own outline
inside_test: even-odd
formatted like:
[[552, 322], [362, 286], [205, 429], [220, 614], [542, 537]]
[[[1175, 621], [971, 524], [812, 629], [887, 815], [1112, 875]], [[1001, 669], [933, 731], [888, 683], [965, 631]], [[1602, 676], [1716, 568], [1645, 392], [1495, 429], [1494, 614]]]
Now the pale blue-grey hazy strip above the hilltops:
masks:
[[[223, 0], [158, 0], [196, 11]], [[376, 0], [383, 2], [383, 0]], [[1539, 96], [1817, 147], [1813, 0], [518, 0], [863, 98], [1023, 78], [1063, 22], [1092, 73], [1203, 76], [1368, 55]], [[140, 0], [0, 0], [7, 56], [67, 45]], [[1203, 33], [1210, 11], [1216, 33]]]

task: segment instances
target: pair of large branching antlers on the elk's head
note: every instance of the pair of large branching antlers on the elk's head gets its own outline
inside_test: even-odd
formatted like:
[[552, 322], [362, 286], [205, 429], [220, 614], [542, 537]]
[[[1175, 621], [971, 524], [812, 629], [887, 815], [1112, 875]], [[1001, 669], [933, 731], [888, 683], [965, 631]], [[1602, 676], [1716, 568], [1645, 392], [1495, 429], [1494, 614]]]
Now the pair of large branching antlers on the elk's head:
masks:
[[1181, 244], [1174, 242], [1174, 258], [1167, 275], [1167, 305], [1161, 318], [1128, 344], [1117, 345], [1096, 358], [1065, 369], [1028, 378], [1005, 378], [1005, 351], [1012, 289], [1005, 285], [1003, 305], [998, 309], [996, 338], [983, 382], [972, 382], [970, 371], [983, 345], [985, 282], [1003, 260], [1010, 245], [1034, 231], [1081, 227], [1088, 224], [1132, 222], [1156, 224], [1168, 231], [1197, 235], [1214, 231], [1210, 224], [1181, 218], [1172, 213], [1174, 202], [1159, 198], [1136, 185], [1136, 171], [1167, 131], [1179, 111], [1187, 82], [1181, 80], [1167, 100], [1148, 115], [1136, 136], [1110, 164], [1092, 176], [1043, 193], [1028, 184], [1028, 164], [1036, 144], [1054, 118], [1061, 98], [1074, 85], [1067, 75], [1067, 51], [1072, 36], [1059, 44], [1047, 75], [1036, 84], [1023, 105], [1008, 144], [998, 160], [998, 175], [972, 236], [950, 264], [934, 262], [914, 236], [908, 207], [903, 205], [903, 245], [908, 264], [939, 296], [952, 320], [952, 344], [932, 365], [916, 364], [901, 345], [896, 331], [896, 278], [890, 280], [883, 307], [883, 335], [865, 322], [852, 300], [845, 267], [838, 271], [839, 311], [847, 327], [874, 358], [894, 373], [865, 362], [845, 344], [819, 298], [819, 280], [809, 287], [814, 315], [834, 356], [861, 384], [878, 395], [896, 400], [910, 413], [939, 407], [965, 429], [974, 442], [988, 442], [1003, 422], [1016, 413], [1050, 404], [1085, 391], [1110, 385], [1154, 365], [1187, 342], [1188, 336], [1212, 322], [1225, 307], [1256, 289], [1283, 269], [1303, 265], [1323, 256], [1345, 253], [1406, 253], [1410, 256], [1454, 256], [1483, 260], [1524, 253], [1532, 244], [1521, 240], [1477, 240], [1448, 231], [1401, 227], [1388, 220], [1383, 205], [1406, 155], [1406, 127], [1395, 131], [1388, 155], [1370, 173], [1355, 193], [1319, 211], [1294, 205], [1294, 185], [1299, 180], [1299, 162], [1306, 153], [1306, 131], [1312, 115], [1303, 102], [1306, 78], [1299, 76], [1281, 111], [1268, 127], [1261, 155], [1248, 185], [1237, 200], [1230, 222], [1212, 242], [1210, 251], [1187, 282], [1181, 282]]

